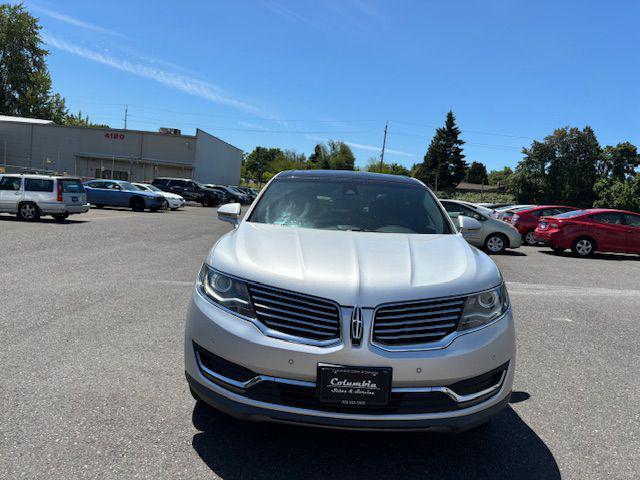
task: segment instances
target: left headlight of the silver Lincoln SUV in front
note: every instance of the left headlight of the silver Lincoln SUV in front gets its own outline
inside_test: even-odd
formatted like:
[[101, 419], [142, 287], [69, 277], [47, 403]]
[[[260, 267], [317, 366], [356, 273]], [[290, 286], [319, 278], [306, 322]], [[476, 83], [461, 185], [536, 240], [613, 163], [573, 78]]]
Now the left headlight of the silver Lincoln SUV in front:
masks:
[[249, 292], [244, 282], [202, 265], [198, 277], [200, 291], [213, 303], [244, 317], [255, 318]]

